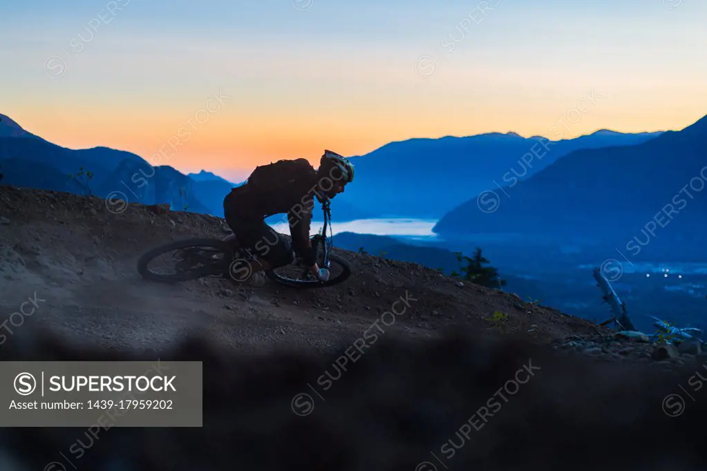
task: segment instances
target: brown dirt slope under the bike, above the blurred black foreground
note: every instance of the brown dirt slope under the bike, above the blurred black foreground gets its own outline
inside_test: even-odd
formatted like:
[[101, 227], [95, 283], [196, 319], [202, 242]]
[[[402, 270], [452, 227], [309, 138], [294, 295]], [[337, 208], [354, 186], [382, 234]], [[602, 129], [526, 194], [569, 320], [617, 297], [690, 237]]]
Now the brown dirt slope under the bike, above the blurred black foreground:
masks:
[[[336, 350], [366, 331], [431, 338], [464, 326], [489, 335], [522, 333], [543, 343], [607, 332], [544, 307], [528, 314], [510, 294], [459, 287], [456, 280], [414, 263], [338, 249], [351, 261], [354, 275], [324, 290], [297, 291], [269, 281], [264, 287], [217, 279], [147, 282], [135, 268], [144, 251], [187, 237], [221, 238], [225, 223], [154, 206], [117, 209], [100, 198], [0, 187], [5, 218], [0, 224], [0, 322], [36, 295], [35, 313], [16, 315], [6, 327], [21, 331], [21, 324], [35, 324], [67, 340], [135, 350], [158, 349], [190, 333], [262, 351], [275, 345]], [[386, 326], [393, 317], [381, 315], [401, 298], [409, 306]], [[494, 311], [508, 314], [503, 326], [486, 320]]]

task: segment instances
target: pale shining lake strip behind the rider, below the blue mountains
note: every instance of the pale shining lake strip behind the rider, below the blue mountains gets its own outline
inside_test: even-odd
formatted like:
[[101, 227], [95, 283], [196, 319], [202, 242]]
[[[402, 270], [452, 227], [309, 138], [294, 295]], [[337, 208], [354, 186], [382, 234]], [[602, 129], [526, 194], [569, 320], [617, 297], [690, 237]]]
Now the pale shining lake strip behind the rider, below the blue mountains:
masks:
[[[334, 220], [332, 224], [332, 232], [334, 235], [339, 232], [356, 232], [357, 234], [373, 234], [380, 236], [395, 236], [409, 237], [411, 239], [430, 239], [434, 240], [437, 234], [432, 232], [432, 228], [437, 224], [437, 220], [433, 219], [359, 219], [348, 222], [337, 222]], [[279, 222], [272, 225], [277, 231], [284, 234], [289, 234], [290, 229], [286, 222]], [[311, 234], [317, 234], [322, 227], [321, 221], [313, 221]], [[328, 232], [328, 231], [327, 231]]]

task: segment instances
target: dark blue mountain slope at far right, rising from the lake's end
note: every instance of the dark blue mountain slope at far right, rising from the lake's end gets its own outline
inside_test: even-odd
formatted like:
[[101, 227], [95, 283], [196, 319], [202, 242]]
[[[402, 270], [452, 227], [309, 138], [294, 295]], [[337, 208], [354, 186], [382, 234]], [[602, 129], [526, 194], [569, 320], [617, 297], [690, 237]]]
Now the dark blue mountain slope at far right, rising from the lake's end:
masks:
[[639, 241], [703, 238], [706, 184], [703, 117], [643, 143], [575, 150], [515, 186], [477, 192], [433, 231], [444, 237], [513, 233], [625, 242], [636, 237], [627, 250], [637, 254]]

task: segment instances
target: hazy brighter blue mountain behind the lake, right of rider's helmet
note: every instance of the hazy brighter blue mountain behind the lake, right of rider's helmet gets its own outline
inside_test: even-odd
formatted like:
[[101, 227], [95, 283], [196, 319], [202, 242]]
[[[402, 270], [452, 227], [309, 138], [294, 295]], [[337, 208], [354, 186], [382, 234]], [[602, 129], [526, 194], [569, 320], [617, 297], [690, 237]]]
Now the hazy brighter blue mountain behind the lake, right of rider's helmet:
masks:
[[561, 141], [517, 133], [409, 139], [351, 157], [356, 181], [339, 198], [384, 216], [437, 219], [481, 191], [527, 179], [575, 150], [635, 145], [660, 134], [604, 129]]

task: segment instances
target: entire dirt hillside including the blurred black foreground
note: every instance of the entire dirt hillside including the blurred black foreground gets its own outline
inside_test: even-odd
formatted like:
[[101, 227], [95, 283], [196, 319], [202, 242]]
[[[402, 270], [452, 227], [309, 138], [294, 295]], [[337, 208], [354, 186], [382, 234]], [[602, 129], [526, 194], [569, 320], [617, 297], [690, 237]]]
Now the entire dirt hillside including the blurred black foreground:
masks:
[[[220, 238], [222, 224], [0, 187], [0, 362], [204, 364], [203, 428], [0, 429], [0, 470], [704, 469], [703, 356], [655, 361], [648, 342], [350, 252], [354, 277], [318, 291], [139, 278], [149, 247]], [[366, 330], [385, 340], [301, 410]]]

